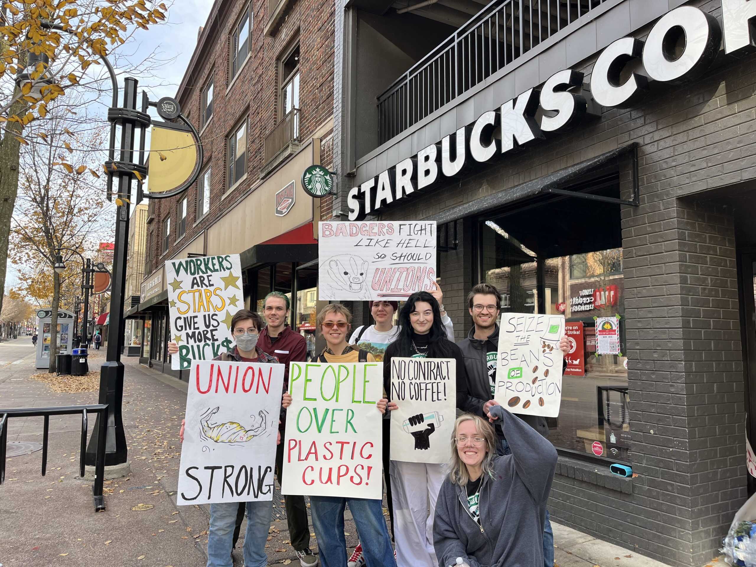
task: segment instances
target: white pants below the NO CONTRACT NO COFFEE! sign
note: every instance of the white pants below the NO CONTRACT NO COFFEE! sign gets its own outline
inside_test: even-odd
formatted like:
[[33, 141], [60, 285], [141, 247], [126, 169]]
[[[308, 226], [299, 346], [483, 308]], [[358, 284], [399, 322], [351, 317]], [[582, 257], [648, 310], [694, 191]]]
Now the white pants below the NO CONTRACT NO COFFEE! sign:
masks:
[[433, 518], [444, 482], [442, 465], [392, 460], [394, 541], [398, 567], [438, 567], [433, 550]]

